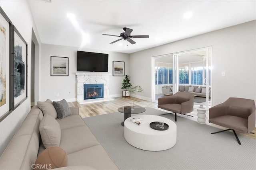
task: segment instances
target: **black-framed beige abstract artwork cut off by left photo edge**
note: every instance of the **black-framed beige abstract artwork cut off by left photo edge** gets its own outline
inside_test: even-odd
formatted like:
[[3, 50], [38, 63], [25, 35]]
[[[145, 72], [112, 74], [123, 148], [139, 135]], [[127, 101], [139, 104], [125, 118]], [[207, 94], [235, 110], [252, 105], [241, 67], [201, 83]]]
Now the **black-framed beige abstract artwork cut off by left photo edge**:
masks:
[[0, 7], [0, 122], [12, 112], [12, 22]]

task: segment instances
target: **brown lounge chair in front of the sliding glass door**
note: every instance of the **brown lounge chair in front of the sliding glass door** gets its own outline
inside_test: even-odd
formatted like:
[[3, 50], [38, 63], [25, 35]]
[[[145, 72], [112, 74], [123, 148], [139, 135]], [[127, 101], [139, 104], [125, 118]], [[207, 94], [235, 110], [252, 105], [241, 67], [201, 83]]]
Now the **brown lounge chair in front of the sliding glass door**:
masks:
[[[158, 98], [158, 107], [175, 113], [175, 121], [177, 121], [177, 113], [186, 115], [193, 111], [194, 94], [188, 92], [177, 92], [172, 96]], [[166, 113], [170, 114], [170, 113]], [[162, 114], [162, 115], [166, 115]], [[191, 116], [191, 115], [188, 115]], [[192, 116], [193, 117], [193, 116]]]

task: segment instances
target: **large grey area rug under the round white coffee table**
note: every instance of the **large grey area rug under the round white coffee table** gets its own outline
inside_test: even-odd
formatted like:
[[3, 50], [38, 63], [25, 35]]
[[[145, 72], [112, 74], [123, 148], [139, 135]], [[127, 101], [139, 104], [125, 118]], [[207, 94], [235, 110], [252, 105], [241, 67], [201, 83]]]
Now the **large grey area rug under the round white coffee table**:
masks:
[[[142, 114], [159, 115], [145, 107]], [[174, 121], [174, 115], [163, 115]], [[123, 113], [84, 118], [92, 133], [120, 170], [250, 170], [256, 169], [256, 140], [232, 132], [211, 134], [220, 129], [177, 117], [177, 143], [164, 151], [137, 149], [124, 139]], [[161, 139], [159, 139], [161, 140]]]

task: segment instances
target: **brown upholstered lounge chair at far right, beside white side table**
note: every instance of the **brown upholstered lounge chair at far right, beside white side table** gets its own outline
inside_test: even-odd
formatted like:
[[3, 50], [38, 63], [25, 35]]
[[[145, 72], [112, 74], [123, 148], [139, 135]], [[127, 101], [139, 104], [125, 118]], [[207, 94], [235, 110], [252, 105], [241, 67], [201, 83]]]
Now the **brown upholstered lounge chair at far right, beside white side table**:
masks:
[[244, 98], [228, 98], [226, 102], [209, 109], [209, 122], [232, 130], [237, 142], [241, 145], [236, 131], [250, 133], [255, 128], [255, 102]]

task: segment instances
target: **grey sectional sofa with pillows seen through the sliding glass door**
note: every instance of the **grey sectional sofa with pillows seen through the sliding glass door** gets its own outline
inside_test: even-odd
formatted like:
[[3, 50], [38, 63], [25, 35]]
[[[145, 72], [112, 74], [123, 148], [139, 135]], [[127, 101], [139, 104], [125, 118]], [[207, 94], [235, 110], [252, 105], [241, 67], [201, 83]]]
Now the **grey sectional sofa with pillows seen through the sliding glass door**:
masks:
[[[206, 97], [206, 91], [205, 86], [192, 86], [192, 85], [187, 85], [187, 86], [179, 86], [179, 91], [180, 92], [190, 92], [193, 93], [196, 96], [200, 97]], [[204, 89], [204, 90], [203, 90]], [[172, 85], [170, 86], [162, 86], [162, 94], [164, 95], [172, 95]], [[211, 97], [211, 88], [209, 87], [209, 97]]]

